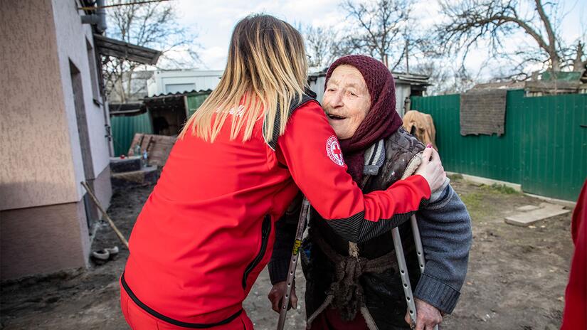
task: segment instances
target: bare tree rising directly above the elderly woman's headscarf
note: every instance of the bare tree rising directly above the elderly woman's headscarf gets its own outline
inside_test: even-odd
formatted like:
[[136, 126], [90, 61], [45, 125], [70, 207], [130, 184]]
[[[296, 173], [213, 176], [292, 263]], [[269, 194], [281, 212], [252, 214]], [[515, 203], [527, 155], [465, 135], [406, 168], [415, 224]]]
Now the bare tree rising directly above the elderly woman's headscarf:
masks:
[[408, 33], [411, 0], [377, 0], [371, 4], [347, 0], [342, 8], [351, 25], [345, 40], [347, 49], [369, 54], [395, 70], [410, 45], [416, 45], [410, 42]]

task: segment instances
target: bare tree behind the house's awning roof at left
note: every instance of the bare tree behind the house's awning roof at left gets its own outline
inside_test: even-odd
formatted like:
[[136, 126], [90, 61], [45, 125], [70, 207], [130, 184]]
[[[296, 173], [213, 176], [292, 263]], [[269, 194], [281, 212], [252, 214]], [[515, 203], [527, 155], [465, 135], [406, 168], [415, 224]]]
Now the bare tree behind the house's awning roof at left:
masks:
[[[199, 60], [195, 48], [196, 35], [180, 26], [171, 2], [131, 4], [131, 0], [112, 0], [111, 4], [125, 4], [108, 10], [107, 35], [138, 46], [162, 51], [157, 68], [193, 67]], [[181, 54], [181, 55], [178, 55]], [[137, 71], [147, 67], [122, 58], [102, 57], [105, 90], [110, 99], [127, 102], [144, 93], [147, 75]], [[139, 86], [137, 86], [139, 85]]]

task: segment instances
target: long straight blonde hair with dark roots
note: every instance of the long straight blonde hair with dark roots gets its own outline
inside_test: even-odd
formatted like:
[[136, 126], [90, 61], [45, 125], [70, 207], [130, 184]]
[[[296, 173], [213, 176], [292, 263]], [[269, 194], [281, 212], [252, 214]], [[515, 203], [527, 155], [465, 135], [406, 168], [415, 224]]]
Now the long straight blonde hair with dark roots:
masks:
[[265, 139], [273, 137], [279, 116], [283, 134], [291, 100], [301, 101], [307, 85], [307, 59], [302, 35], [273, 16], [254, 14], [236, 24], [228, 49], [228, 63], [218, 87], [191, 115], [181, 130], [213, 142], [228, 115], [231, 139], [244, 127], [243, 142], [263, 115]]

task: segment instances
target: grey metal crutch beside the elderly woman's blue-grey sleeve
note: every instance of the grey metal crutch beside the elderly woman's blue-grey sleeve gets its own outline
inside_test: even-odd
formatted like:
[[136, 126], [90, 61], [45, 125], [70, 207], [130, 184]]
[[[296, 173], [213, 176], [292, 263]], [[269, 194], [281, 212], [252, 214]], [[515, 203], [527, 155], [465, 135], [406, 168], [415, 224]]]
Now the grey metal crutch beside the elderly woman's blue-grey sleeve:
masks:
[[[425, 259], [424, 251], [422, 248], [422, 239], [420, 237], [420, 229], [416, 222], [416, 215], [412, 215], [410, 218], [412, 225], [412, 233], [414, 236], [414, 243], [416, 245], [416, 253], [418, 255], [418, 264], [420, 266], [420, 272], [424, 272]], [[399, 235], [399, 228], [393, 228], [391, 230], [391, 238], [393, 238], [393, 248], [396, 250], [396, 257], [398, 258], [399, 273], [401, 276], [401, 283], [403, 284], [403, 294], [406, 296], [406, 302], [408, 303], [408, 312], [412, 321], [411, 328], [416, 327], [416, 302], [413, 299], [412, 286], [410, 284], [410, 277], [408, 276], [408, 267], [406, 265], [406, 257], [403, 255], [403, 246], [401, 245], [401, 237]], [[438, 324], [434, 326], [434, 330], [438, 330]]]

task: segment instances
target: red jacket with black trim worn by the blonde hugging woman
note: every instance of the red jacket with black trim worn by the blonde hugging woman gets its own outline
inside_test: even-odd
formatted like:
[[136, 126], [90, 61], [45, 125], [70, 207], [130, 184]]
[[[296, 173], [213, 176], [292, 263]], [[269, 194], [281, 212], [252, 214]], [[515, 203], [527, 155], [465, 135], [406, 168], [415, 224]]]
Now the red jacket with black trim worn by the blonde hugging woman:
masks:
[[191, 134], [176, 142], [132, 230], [122, 286], [171, 324], [212, 326], [240, 314], [298, 187], [352, 241], [403, 223], [430, 197], [422, 176], [363, 195], [317, 102], [297, 107], [270, 143], [263, 120], [244, 143], [231, 141], [230, 129], [227, 120], [213, 143]]

